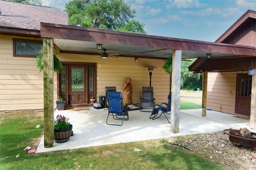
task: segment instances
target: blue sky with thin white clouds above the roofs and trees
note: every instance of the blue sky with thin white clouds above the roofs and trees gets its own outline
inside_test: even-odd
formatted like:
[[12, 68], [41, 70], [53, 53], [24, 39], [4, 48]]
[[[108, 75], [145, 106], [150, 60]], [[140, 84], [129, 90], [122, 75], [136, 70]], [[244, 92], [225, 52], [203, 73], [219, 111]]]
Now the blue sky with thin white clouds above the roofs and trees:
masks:
[[[43, 5], [65, 9], [68, 0], [42, 0]], [[148, 35], [214, 42], [256, 0], [125, 0], [145, 24]]]

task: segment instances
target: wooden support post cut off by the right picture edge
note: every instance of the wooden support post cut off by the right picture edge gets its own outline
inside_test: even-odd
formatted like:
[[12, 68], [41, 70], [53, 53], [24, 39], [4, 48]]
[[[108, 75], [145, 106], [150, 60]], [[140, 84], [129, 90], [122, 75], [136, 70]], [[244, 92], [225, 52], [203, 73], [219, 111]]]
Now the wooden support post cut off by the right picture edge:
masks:
[[250, 128], [256, 129], [256, 70], [255, 74], [252, 76]]

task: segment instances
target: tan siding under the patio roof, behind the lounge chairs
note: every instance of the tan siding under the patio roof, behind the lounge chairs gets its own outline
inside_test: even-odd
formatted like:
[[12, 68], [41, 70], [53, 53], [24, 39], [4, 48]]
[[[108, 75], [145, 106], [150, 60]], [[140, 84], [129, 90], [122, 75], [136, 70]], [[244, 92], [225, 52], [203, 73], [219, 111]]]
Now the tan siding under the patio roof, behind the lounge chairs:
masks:
[[163, 60], [139, 58], [109, 57], [102, 59], [100, 56], [86, 56], [79, 54], [59, 54], [63, 62], [97, 63], [97, 96], [105, 95], [106, 86], [116, 86], [118, 91], [123, 90], [126, 78], [132, 79], [133, 102], [139, 101], [142, 86], [149, 86], [148, 70], [145, 66], [157, 66], [152, 75], [152, 86], [156, 103], [166, 102], [170, 91], [170, 75], [162, 70]]

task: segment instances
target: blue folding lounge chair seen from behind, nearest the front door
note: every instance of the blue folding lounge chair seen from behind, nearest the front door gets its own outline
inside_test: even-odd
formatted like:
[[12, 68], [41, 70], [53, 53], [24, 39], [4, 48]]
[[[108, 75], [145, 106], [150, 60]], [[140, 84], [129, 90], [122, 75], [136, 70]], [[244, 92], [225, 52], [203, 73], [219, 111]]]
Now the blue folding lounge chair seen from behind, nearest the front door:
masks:
[[122, 126], [124, 121], [129, 120], [129, 115], [127, 111], [127, 107], [124, 107], [123, 104], [123, 98], [121, 92], [108, 92], [108, 116], [112, 115], [115, 120], [122, 121], [121, 124], [113, 124], [108, 123], [108, 117], [107, 117], [107, 124], [110, 125], [118, 125]]

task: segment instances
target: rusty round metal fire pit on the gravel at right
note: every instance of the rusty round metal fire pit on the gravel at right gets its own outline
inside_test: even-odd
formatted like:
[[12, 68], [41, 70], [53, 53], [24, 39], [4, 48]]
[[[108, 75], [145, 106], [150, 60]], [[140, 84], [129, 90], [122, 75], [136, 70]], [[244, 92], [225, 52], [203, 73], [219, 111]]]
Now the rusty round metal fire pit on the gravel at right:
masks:
[[[243, 137], [240, 134], [239, 130], [225, 129], [225, 130], [223, 130], [223, 133], [229, 135], [229, 141], [234, 142], [238, 145], [242, 145], [245, 147], [251, 147], [251, 148], [256, 147], [256, 138]], [[251, 136], [252, 135], [256, 135], [256, 133], [251, 132]]]

